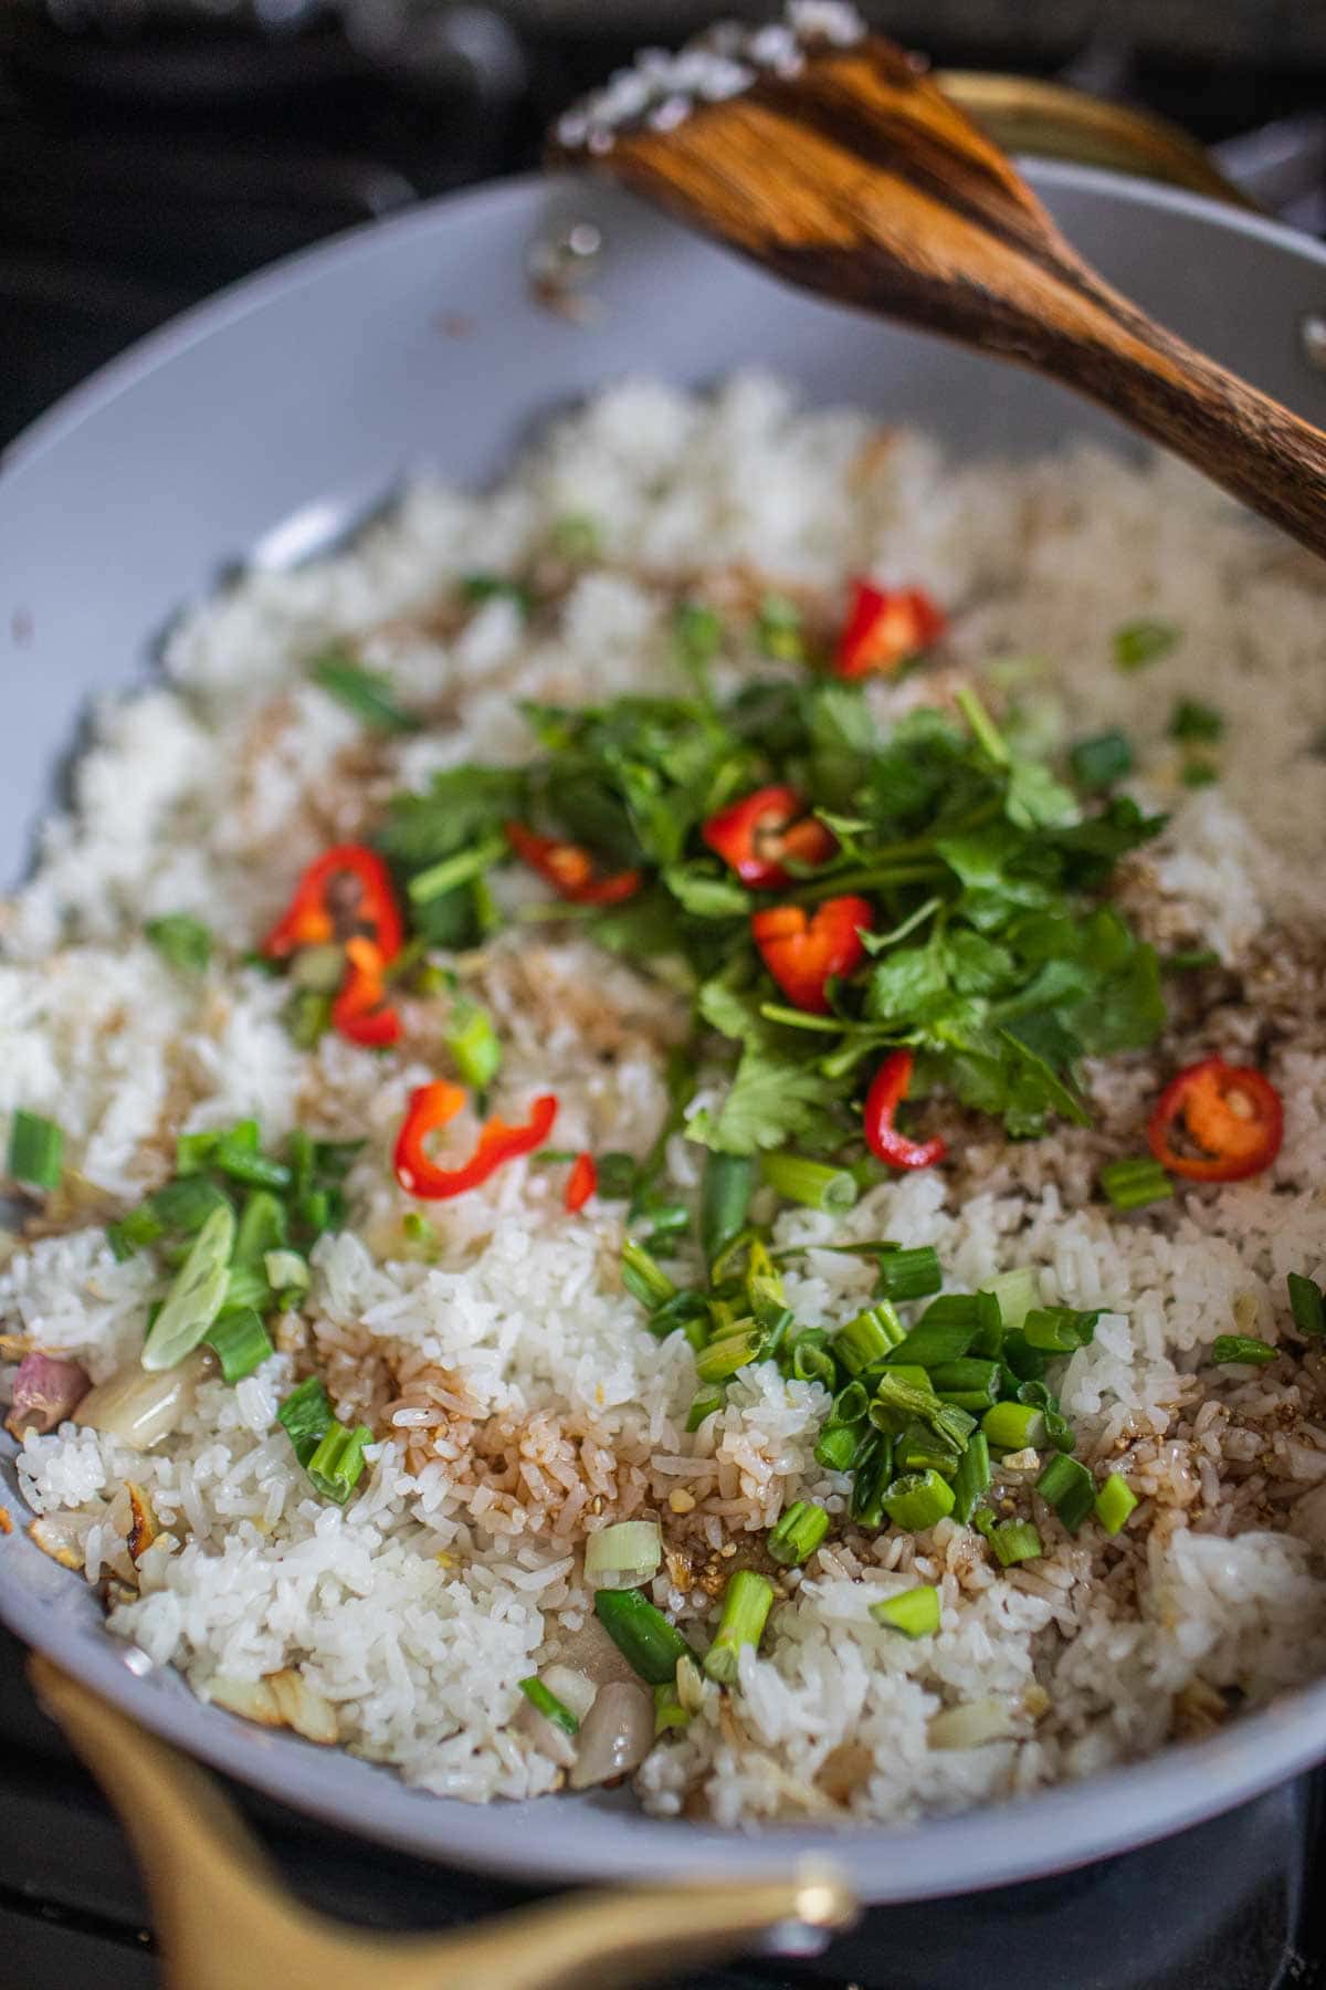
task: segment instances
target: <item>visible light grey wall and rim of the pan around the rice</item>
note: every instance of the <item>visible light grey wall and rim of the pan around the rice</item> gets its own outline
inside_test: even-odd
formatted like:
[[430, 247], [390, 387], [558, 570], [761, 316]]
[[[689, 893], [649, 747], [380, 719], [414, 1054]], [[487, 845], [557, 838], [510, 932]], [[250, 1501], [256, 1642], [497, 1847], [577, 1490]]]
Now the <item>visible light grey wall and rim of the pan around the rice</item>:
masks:
[[[1326, 251], [1254, 215], [1081, 167], [1032, 183], [1125, 295], [1326, 424], [1304, 324]], [[592, 324], [539, 304], [531, 241], [592, 219]], [[18, 876], [85, 700], [143, 681], [183, 601], [237, 559], [326, 549], [419, 464], [497, 476], [537, 424], [622, 372], [710, 382], [751, 362], [811, 402], [865, 404], [954, 450], [1034, 452], [1107, 416], [1030, 376], [779, 289], [602, 185], [511, 181], [300, 255], [187, 314], [44, 416], [0, 468], [0, 850]], [[111, 1640], [82, 1578], [26, 1538], [0, 1441], [0, 1618], [78, 1682], [207, 1763], [346, 1829], [541, 1881], [785, 1873], [829, 1855], [863, 1900], [972, 1890], [1177, 1831], [1326, 1753], [1326, 1684], [1207, 1741], [918, 1829], [724, 1835], [638, 1815], [624, 1793], [475, 1809], [388, 1769], [199, 1705]]]

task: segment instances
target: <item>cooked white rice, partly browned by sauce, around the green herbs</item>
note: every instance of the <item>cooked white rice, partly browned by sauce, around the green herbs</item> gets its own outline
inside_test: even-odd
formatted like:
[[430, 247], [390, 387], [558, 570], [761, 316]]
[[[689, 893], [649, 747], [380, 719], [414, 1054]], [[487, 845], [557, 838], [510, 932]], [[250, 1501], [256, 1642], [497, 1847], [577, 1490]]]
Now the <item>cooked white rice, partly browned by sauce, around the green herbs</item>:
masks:
[[[604, 563], [545, 559], [551, 605], [529, 629], [503, 599], [455, 613], [457, 575], [521, 567], [573, 511], [602, 521]], [[1012, 1572], [952, 1522], [859, 1536], [847, 1481], [813, 1461], [823, 1389], [771, 1363], [688, 1437], [692, 1353], [682, 1335], [654, 1341], [620, 1290], [620, 1206], [569, 1222], [553, 1180], [519, 1162], [429, 1212], [441, 1258], [412, 1258], [390, 1146], [439, 1059], [427, 1003], [406, 1007], [398, 1059], [336, 1037], [300, 1055], [280, 985], [213, 969], [199, 997], [139, 937], [145, 917], [189, 909], [252, 945], [300, 864], [396, 786], [527, 754], [521, 696], [672, 689], [678, 587], [736, 609], [777, 585], [827, 627], [851, 573], [920, 583], [954, 615], [952, 663], [881, 691], [883, 710], [1016, 657], [990, 675], [996, 702], [1014, 675], [1052, 732], [1127, 726], [1137, 792], [1173, 808], [1125, 882], [1133, 915], [1221, 957], [1177, 997], [1155, 1053], [1093, 1071], [1093, 1128], [1010, 1146], [960, 1116], [956, 1168], [875, 1188], [837, 1228], [803, 1210], [777, 1220], [779, 1244], [934, 1244], [956, 1288], [1030, 1264], [1046, 1301], [1107, 1309], [1066, 1365], [1064, 1411], [1079, 1457], [1117, 1465], [1141, 1506], [1117, 1540], [1093, 1524], [1074, 1540], [1030, 1475], [1006, 1469], [1008, 1510], [1034, 1512], [1048, 1546]], [[1284, 1274], [1324, 1268], [1322, 605], [1306, 557], [1169, 462], [1077, 450], [952, 468], [920, 436], [807, 414], [746, 376], [714, 400], [614, 388], [491, 496], [415, 486], [350, 551], [249, 575], [191, 615], [169, 681], [101, 712], [74, 814], [0, 911], [0, 1132], [14, 1106], [50, 1112], [76, 1170], [48, 1212], [54, 1234], [0, 1272], [0, 1327], [93, 1379], [135, 1359], [153, 1274], [115, 1264], [101, 1224], [165, 1178], [181, 1130], [256, 1114], [270, 1138], [298, 1122], [368, 1146], [354, 1228], [318, 1244], [306, 1315], [280, 1323], [254, 1377], [205, 1381], [161, 1455], [72, 1425], [28, 1437], [24, 1496], [52, 1550], [109, 1578], [109, 1628], [201, 1693], [336, 1735], [425, 1789], [527, 1797], [559, 1771], [511, 1727], [517, 1682], [575, 1662], [592, 1618], [586, 1530], [660, 1516], [654, 1598], [702, 1644], [730, 1570], [767, 1566], [763, 1530], [789, 1500], [819, 1498], [835, 1528], [805, 1570], [779, 1574], [740, 1695], [708, 1688], [702, 1715], [638, 1775], [652, 1811], [722, 1823], [911, 1819], [1026, 1793], [1322, 1670], [1326, 1361], [1294, 1347], [1250, 1379], [1203, 1365], [1235, 1325], [1278, 1341]], [[1183, 639], [1125, 677], [1109, 637], [1137, 615]], [[304, 675], [332, 637], [358, 639], [435, 730], [366, 746]], [[1181, 695], [1227, 718], [1223, 778], [1197, 794], [1165, 738]], [[559, 1144], [642, 1154], [666, 1110], [660, 1053], [684, 1033], [676, 997], [575, 939], [519, 929], [463, 967], [507, 1043], [497, 1108], [557, 1091]], [[1099, 1160], [1137, 1150], [1161, 1073], [1211, 1049], [1256, 1055], [1282, 1091], [1274, 1168], [1181, 1186], [1133, 1216], [1089, 1200]], [[692, 1192], [696, 1148], [674, 1138], [670, 1162]], [[841, 1321], [871, 1278], [811, 1250], [789, 1303]], [[378, 1433], [344, 1510], [312, 1496], [272, 1427], [312, 1363]], [[137, 1568], [125, 1481], [161, 1528]], [[938, 1582], [944, 1616], [940, 1636], [911, 1644], [869, 1604], [916, 1578]], [[952, 1735], [934, 1717], [964, 1705], [994, 1739], [936, 1745]]]

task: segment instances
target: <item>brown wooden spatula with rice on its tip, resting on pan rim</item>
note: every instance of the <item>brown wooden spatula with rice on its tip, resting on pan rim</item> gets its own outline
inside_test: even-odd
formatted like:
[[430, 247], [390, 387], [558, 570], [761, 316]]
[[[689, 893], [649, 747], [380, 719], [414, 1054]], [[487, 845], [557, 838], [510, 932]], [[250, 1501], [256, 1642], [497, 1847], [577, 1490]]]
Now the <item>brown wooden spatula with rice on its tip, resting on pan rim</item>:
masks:
[[553, 155], [801, 289], [1062, 380], [1326, 555], [1326, 434], [1119, 297], [893, 42], [845, 8], [797, 18], [644, 58]]

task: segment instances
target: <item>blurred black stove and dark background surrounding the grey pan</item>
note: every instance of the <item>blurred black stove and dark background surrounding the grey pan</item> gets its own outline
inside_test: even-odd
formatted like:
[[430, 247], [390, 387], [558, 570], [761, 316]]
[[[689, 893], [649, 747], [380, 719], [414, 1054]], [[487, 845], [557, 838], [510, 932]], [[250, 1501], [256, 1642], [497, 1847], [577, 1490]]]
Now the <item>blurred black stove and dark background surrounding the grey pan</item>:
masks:
[[[1056, 76], [1163, 111], [1219, 147], [1264, 205], [1326, 229], [1324, 0], [867, 12], [936, 64]], [[247, 271], [529, 169], [580, 88], [708, 14], [690, 0], [0, 0], [0, 446]], [[445, 1928], [527, 1898], [243, 1801], [288, 1883], [366, 1926]], [[1318, 1777], [1306, 1777], [1165, 1847], [873, 1914], [819, 1962], [734, 1966], [704, 1984], [1314, 1990], [1326, 1986], [1318, 1809]], [[0, 1847], [0, 1984], [155, 1990], [125, 1841], [2, 1632]]]

